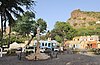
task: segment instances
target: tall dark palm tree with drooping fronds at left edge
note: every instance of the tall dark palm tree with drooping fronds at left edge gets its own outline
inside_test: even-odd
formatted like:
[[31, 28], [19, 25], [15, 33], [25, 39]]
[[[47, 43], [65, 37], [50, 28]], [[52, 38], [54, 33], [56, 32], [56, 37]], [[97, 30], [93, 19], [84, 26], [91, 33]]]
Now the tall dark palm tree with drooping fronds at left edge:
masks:
[[[29, 9], [30, 6], [33, 5], [35, 1], [33, 0], [0, 0], [0, 14], [1, 14], [1, 31], [2, 31], [2, 38], [3, 39], [3, 27], [5, 29], [5, 24], [8, 21], [9, 23], [9, 42], [8, 42], [8, 47], [10, 43], [10, 33], [11, 33], [11, 26], [14, 25], [14, 18], [12, 14], [14, 15], [15, 18], [19, 17], [20, 14], [24, 13], [24, 10], [22, 9], [22, 6], [25, 6], [26, 9]], [[4, 22], [5, 21], [5, 22]], [[4, 24], [3, 24], [4, 22]]]

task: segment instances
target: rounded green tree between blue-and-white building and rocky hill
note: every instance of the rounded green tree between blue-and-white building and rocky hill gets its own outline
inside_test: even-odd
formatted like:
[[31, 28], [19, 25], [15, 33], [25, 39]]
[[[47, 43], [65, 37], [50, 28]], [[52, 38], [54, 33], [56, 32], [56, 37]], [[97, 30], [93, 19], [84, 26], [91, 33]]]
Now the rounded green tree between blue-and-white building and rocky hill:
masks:
[[52, 30], [53, 36], [56, 36], [54, 36], [55, 39], [57, 39], [58, 36], [61, 38], [59, 42], [62, 42], [64, 39], [72, 39], [75, 33], [76, 30], [73, 29], [69, 23], [60, 21], [56, 22], [55, 28]]

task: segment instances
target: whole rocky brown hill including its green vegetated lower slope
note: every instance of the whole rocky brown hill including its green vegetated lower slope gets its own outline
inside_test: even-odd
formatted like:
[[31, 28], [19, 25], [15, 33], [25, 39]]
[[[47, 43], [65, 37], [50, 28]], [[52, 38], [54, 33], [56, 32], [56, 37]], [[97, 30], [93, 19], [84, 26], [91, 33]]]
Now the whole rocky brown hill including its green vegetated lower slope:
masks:
[[87, 12], [80, 9], [74, 10], [67, 22], [76, 29], [76, 36], [99, 35], [100, 36], [100, 12]]

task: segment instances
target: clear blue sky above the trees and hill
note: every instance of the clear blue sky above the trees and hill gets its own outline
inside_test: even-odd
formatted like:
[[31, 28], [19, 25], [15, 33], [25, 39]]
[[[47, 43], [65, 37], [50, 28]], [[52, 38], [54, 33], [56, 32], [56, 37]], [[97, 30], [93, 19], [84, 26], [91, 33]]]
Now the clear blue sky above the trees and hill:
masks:
[[52, 30], [57, 21], [66, 22], [73, 10], [100, 12], [100, 0], [36, 0], [36, 19], [47, 22], [47, 29]]

